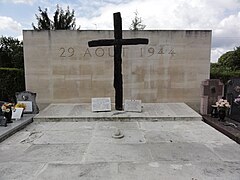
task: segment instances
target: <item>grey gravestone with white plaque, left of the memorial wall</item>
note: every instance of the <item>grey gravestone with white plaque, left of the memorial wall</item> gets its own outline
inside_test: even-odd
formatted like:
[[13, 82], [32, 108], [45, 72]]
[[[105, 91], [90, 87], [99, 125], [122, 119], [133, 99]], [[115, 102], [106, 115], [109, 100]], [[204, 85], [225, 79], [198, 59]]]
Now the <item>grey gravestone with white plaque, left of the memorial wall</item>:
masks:
[[[26, 104], [26, 111], [24, 113], [38, 114], [39, 108], [36, 103], [36, 93], [30, 91], [16, 92], [16, 99], [19, 103]], [[32, 105], [31, 105], [32, 104]]]

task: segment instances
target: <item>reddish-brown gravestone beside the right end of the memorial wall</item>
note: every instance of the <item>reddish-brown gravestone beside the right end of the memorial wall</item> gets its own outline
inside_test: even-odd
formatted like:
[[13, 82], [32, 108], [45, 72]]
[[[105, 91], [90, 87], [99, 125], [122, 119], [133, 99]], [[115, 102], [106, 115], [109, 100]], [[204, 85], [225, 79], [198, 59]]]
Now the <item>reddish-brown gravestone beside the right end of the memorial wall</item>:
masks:
[[200, 114], [211, 114], [212, 105], [224, 95], [224, 84], [219, 79], [207, 79], [201, 83]]

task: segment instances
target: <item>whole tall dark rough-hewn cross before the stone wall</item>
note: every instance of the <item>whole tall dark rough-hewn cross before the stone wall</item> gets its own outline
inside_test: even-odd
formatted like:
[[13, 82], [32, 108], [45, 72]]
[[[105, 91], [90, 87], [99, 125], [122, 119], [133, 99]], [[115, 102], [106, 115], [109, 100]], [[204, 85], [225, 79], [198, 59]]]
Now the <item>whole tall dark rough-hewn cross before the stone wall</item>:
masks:
[[148, 44], [146, 38], [122, 38], [122, 18], [120, 12], [113, 14], [114, 38], [100, 39], [88, 42], [89, 47], [114, 46], [114, 83], [115, 88], [115, 109], [123, 110], [123, 85], [122, 85], [122, 45]]

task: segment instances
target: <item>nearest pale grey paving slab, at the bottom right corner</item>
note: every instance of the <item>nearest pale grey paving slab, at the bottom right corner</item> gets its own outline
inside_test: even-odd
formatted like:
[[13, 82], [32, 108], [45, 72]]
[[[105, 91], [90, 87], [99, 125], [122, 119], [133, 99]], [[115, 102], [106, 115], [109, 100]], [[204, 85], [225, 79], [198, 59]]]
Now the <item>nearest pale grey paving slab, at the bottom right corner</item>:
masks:
[[117, 179], [238, 180], [239, 163], [155, 161], [119, 163]]

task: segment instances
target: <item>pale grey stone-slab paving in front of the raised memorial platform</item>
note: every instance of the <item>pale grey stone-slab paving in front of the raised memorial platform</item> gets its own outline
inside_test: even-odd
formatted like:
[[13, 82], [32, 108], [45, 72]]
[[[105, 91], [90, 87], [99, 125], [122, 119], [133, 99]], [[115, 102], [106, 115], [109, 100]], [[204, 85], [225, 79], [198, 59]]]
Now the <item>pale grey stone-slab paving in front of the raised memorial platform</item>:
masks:
[[202, 121], [34, 122], [0, 144], [0, 179], [239, 180], [239, 154]]

